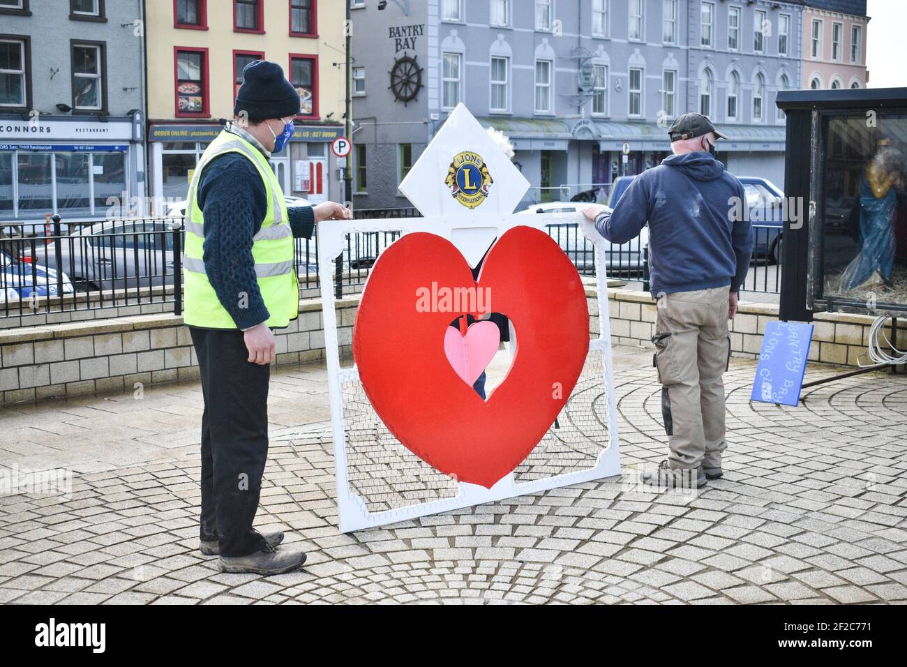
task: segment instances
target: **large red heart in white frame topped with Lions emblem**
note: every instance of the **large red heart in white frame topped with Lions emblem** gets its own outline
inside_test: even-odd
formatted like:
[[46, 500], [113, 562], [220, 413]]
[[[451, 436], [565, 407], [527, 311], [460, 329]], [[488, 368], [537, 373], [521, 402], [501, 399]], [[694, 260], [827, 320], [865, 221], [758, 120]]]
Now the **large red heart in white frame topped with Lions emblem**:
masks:
[[[460, 104], [400, 184], [424, 217], [317, 226], [322, 258], [349, 234], [395, 238], [352, 337], [333, 263], [319, 267], [341, 531], [619, 475], [607, 280], [590, 339], [585, 286], [547, 227], [584, 234], [600, 269], [603, 240], [579, 213], [512, 214], [528, 187]], [[483, 396], [491, 368], [506, 369]]]

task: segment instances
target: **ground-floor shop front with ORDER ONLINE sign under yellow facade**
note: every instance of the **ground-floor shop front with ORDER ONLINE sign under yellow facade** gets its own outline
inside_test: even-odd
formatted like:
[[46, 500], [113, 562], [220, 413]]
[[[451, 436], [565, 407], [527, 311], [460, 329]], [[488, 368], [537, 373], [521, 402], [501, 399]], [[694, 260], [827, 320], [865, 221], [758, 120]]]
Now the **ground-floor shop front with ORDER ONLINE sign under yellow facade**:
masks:
[[[148, 142], [154, 214], [186, 199], [201, 154], [222, 129], [214, 123], [151, 124]], [[330, 144], [342, 135], [342, 125], [296, 126], [287, 147], [270, 160], [288, 196], [313, 203], [339, 197], [336, 158]]]

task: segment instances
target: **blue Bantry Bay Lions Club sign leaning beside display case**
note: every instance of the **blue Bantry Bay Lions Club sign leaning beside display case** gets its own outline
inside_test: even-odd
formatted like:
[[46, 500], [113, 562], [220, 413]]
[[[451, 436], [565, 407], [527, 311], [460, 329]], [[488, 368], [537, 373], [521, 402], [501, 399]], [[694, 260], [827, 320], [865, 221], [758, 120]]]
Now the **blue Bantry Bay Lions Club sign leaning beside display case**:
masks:
[[762, 337], [762, 352], [753, 382], [755, 401], [795, 406], [806, 372], [806, 358], [813, 340], [813, 325], [769, 322]]

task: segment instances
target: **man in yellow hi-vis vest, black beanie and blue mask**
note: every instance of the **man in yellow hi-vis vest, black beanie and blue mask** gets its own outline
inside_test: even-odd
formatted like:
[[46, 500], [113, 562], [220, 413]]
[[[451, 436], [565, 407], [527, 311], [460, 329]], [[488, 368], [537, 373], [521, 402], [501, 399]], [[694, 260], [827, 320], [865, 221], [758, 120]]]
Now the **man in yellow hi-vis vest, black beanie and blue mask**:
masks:
[[222, 572], [278, 574], [306, 554], [252, 528], [268, 458], [271, 329], [298, 315], [294, 239], [352, 213], [331, 201], [288, 208], [268, 159], [292, 136], [299, 94], [276, 63], [250, 63], [243, 77], [234, 121], [201, 156], [186, 206], [184, 320], [205, 402], [200, 548], [219, 554]]

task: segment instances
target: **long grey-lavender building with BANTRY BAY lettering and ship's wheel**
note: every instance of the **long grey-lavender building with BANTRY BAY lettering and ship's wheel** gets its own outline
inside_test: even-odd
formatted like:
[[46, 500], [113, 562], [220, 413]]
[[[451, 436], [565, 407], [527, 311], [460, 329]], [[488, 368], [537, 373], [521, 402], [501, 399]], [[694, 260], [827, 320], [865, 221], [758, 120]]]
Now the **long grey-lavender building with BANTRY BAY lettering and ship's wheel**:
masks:
[[[385, 5], [382, 10], [379, 5]], [[670, 151], [679, 113], [707, 113], [737, 174], [783, 183], [783, 114], [798, 87], [799, 0], [353, 2], [354, 201], [396, 184], [456, 103], [507, 133], [523, 203], [597, 191]]]

